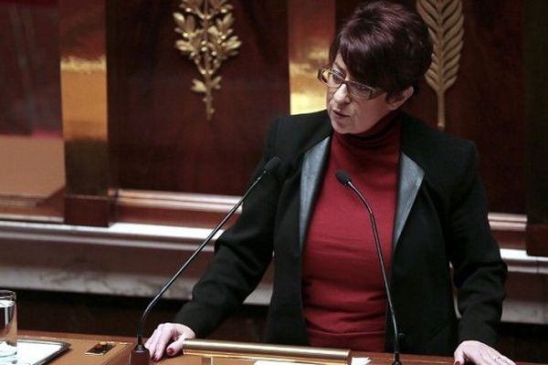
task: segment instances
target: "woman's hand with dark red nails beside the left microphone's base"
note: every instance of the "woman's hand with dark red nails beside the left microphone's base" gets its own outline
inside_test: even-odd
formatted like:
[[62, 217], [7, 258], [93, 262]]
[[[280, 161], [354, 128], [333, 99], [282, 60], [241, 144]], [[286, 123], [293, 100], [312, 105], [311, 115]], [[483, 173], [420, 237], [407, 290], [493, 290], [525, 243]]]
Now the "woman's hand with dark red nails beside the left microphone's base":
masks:
[[160, 360], [163, 350], [167, 356], [174, 356], [183, 350], [184, 339], [195, 339], [195, 332], [180, 323], [162, 323], [154, 329], [144, 346], [151, 351], [152, 360]]

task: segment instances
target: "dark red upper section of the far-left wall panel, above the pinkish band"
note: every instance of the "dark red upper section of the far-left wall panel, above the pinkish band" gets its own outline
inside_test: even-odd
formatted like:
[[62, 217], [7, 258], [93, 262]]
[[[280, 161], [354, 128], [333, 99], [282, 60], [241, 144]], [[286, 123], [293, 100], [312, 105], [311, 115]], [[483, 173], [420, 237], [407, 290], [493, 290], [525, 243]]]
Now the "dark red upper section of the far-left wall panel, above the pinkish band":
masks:
[[55, 3], [0, 0], [0, 134], [62, 134]]

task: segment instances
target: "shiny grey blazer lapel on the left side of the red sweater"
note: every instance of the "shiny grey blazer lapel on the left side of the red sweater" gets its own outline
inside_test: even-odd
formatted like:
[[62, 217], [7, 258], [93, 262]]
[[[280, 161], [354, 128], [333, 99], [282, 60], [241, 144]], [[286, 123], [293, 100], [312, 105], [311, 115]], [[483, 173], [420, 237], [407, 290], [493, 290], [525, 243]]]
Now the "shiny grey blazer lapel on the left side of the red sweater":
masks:
[[311, 220], [311, 207], [321, 182], [327, 160], [331, 136], [324, 138], [306, 151], [302, 160], [300, 175], [300, 212], [299, 212], [299, 244], [300, 250], [304, 245], [304, 238]]

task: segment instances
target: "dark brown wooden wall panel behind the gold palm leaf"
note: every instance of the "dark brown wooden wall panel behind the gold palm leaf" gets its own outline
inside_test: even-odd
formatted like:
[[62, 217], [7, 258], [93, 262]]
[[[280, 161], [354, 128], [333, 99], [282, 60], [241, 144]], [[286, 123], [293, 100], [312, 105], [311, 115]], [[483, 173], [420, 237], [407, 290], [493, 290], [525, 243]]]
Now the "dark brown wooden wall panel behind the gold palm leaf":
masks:
[[[525, 214], [522, 2], [462, 4], [464, 47], [446, 94], [446, 130], [476, 143], [490, 211]], [[426, 83], [409, 109], [436, 125], [436, 96]]]

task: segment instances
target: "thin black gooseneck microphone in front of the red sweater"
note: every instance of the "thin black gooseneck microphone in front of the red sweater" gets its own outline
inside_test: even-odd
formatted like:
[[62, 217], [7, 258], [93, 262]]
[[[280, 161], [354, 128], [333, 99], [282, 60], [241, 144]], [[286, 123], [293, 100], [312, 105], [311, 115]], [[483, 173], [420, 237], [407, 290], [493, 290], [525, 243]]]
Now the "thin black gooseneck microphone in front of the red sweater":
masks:
[[379, 264], [381, 266], [381, 273], [383, 274], [383, 282], [385, 284], [385, 290], [386, 290], [386, 300], [388, 301], [388, 308], [390, 310], [390, 318], [392, 319], [392, 326], [394, 327], [394, 361], [392, 362], [392, 365], [402, 365], [399, 355], [400, 355], [400, 348], [399, 348], [399, 334], [397, 331], [397, 323], [395, 321], [395, 310], [394, 305], [392, 302], [392, 295], [390, 294], [390, 288], [388, 287], [388, 279], [386, 278], [386, 269], [385, 269], [385, 259], [383, 258], [383, 251], [381, 250], [381, 241], [379, 239], [379, 233], [377, 231], [376, 222], [374, 220], [374, 213], [373, 209], [371, 209], [371, 205], [367, 203], [367, 201], [364, 198], [364, 195], [360, 193], [358, 189], [353, 185], [352, 180], [350, 179], [350, 176], [348, 176], [348, 173], [338, 170], [335, 172], [335, 176], [337, 177], [337, 180], [339, 183], [342, 183], [344, 186], [348, 186], [353, 190], [356, 195], [360, 198], [362, 203], [364, 203], [365, 208], [367, 208], [367, 213], [369, 214], [369, 219], [371, 220], [371, 226], [373, 227], [373, 237], [374, 237], [374, 245], [376, 246], [377, 255], [379, 257]]

